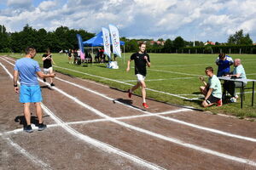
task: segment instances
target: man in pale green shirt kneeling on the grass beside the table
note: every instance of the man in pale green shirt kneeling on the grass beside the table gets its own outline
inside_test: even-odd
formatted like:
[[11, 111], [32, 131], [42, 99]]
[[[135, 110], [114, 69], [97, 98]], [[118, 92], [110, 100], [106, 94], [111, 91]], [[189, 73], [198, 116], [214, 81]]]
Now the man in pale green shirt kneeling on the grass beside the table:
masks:
[[204, 77], [200, 77], [201, 81], [204, 83], [204, 86], [200, 87], [200, 91], [205, 96], [205, 99], [201, 105], [203, 107], [208, 107], [211, 105], [222, 106], [221, 84], [218, 77], [213, 74], [213, 68], [211, 66], [208, 66], [205, 72], [209, 79], [208, 82], [205, 82]]

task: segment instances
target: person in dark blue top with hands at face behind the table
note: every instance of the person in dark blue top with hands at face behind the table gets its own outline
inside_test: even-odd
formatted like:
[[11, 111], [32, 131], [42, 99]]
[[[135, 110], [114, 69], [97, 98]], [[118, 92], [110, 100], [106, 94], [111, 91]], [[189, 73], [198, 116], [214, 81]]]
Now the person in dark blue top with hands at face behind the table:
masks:
[[230, 74], [230, 65], [233, 65], [233, 59], [224, 53], [218, 54], [218, 59], [215, 61], [218, 65], [217, 77], [223, 77]]

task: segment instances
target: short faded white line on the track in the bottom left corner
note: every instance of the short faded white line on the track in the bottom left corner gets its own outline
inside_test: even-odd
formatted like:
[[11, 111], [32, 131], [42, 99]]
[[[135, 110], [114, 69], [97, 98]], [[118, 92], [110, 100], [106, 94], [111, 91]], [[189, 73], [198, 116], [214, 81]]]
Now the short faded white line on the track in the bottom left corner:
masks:
[[32, 156], [30, 153], [28, 153], [25, 149], [23, 149], [19, 144], [16, 144], [13, 140], [9, 139], [8, 137], [4, 137], [3, 139], [6, 139], [8, 141], [8, 144], [13, 146], [15, 150], [19, 151], [23, 156], [26, 156], [29, 160], [34, 162], [35, 165], [38, 167], [41, 167], [43, 169], [51, 169], [51, 167], [44, 163], [44, 161], [41, 161], [36, 156]]

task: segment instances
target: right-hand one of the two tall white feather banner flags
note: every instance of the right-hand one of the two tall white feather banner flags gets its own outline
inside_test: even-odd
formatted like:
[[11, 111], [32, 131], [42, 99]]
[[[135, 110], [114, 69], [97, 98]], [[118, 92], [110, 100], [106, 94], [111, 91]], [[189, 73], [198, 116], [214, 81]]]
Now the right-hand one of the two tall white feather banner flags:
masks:
[[116, 26], [113, 26], [112, 24], [110, 24], [109, 31], [111, 34], [113, 54], [117, 54], [119, 57], [121, 57], [119, 30], [117, 29]]

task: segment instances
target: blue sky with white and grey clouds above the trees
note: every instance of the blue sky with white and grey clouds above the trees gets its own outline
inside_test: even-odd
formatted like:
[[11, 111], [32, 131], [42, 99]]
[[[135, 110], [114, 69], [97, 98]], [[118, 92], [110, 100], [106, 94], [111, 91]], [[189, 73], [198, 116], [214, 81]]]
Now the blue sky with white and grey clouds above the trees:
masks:
[[98, 33], [113, 24], [120, 37], [202, 42], [227, 42], [242, 29], [256, 42], [255, 7], [255, 0], [1, 0], [0, 25]]

